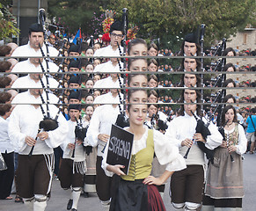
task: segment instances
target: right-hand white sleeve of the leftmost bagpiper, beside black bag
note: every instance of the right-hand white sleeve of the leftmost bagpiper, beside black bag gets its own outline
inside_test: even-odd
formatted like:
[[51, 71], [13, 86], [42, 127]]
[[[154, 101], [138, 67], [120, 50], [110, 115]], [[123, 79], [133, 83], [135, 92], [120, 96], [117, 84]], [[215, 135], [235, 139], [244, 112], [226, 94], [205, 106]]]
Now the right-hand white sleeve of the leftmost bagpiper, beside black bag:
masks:
[[[55, 113], [58, 112], [58, 108], [56, 106], [50, 105], [50, 111], [54, 109], [55, 107]], [[55, 118], [55, 116], [54, 116]], [[50, 148], [56, 148], [64, 142], [66, 135], [68, 134], [68, 123], [67, 120], [65, 120], [62, 113], [60, 113], [58, 118], [58, 127], [55, 130], [48, 131], [48, 139], [45, 140], [46, 144]]]

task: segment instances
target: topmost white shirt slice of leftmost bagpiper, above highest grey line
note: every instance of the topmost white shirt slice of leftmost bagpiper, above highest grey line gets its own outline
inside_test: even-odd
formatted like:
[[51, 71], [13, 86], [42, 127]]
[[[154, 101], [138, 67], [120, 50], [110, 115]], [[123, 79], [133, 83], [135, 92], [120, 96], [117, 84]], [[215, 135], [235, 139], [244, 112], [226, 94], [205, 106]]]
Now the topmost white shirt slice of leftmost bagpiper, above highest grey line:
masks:
[[[44, 54], [47, 56], [47, 47], [45, 44], [42, 46], [42, 50]], [[50, 56], [57, 56], [59, 55], [59, 51], [55, 49], [55, 47], [48, 47], [49, 55]], [[38, 48], [38, 50], [35, 50], [33, 47], [30, 47], [29, 41], [26, 45], [17, 47], [11, 56], [42, 56], [41, 51]]]

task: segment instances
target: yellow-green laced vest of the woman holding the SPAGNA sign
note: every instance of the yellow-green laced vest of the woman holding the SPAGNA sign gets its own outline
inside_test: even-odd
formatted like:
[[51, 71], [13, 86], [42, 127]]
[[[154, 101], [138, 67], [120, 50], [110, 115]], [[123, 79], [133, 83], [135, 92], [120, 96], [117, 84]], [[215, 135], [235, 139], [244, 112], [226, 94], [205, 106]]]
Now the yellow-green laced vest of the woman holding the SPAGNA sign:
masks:
[[147, 147], [132, 155], [128, 175], [121, 176], [122, 179], [134, 181], [135, 179], [150, 176], [152, 161], [154, 157], [153, 130], [149, 129]]

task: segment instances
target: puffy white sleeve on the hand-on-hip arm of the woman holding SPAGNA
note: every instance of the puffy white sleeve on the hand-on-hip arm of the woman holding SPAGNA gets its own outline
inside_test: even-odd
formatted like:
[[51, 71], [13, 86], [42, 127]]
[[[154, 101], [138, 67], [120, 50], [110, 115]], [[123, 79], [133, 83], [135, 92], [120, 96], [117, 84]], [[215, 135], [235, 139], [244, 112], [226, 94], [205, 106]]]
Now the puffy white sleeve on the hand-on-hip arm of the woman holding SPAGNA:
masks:
[[187, 168], [184, 158], [179, 154], [175, 144], [166, 139], [166, 136], [154, 130], [155, 154], [160, 164], [166, 165], [167, 171], [180, 171]]

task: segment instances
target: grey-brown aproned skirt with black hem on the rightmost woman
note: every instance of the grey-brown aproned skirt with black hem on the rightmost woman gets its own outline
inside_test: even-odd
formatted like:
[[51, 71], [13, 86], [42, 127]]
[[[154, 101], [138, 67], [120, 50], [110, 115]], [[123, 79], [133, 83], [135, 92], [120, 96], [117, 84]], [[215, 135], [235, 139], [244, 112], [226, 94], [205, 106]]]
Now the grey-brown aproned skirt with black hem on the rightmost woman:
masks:
[[208, 166], [206, 191], [202, 211], [242, 211], [243, 165], [242, 157], [227, 149], [217, 148], [214, 164]]

